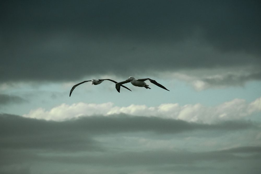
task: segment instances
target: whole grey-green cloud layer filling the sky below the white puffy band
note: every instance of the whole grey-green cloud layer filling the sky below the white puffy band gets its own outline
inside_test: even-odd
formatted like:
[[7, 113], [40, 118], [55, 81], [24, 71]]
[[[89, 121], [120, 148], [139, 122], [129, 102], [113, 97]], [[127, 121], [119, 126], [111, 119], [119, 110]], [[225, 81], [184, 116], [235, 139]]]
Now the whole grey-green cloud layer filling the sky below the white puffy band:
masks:
[[[229, 173], [235, 170], [233, 166], [239, 165], [239, 161], [251, 164], [252, 161], [261, 159], [260, 146], [234, 145], [237, 143], [235, 139], [230, 139], [234, 141], [230, 142], [230, 148], [224, 146], [225, 142], [219, 142], [219, 149], [198, 150], [191, 146], [188, 146], [190, 150], [184, 149], [184, 143], [190, 142], [192, 138], [203, 141], [204, 144], [210, 136], [211, 139], [215, 137], [224, 140], [230, 133], [234, 137], [241, 137], [242, 133], [246, 135], [248, 131], [255, 131], [258, 135], [260, 127], [247, 121], [199, 124], [120, 114], [56, 122], [1, 114], [0, 129], [0, 158], [3, 161], [0, 171], [6, 173], [43, 172], [42, 168], [44, 173], [60, 173], [61, 166], [64, 169], [73, 169], [75, 165], [76, 173], [81, 173], [82, 170], [168, 173], [170, 170], [187, 172], [192, 169], [197, 169], [199, 173], [209, 170], [220, 172], [221, 169], [223, 173]], [[148, 140], [151, 143], [148, 144]], [[252, 142], [253, 140], [251, 138]], [[255, 141], [258, 143], [260, 139]], [[164, 145], [160, 144], [162, 142]], [[156, 144], [157, 147], [153, 147]], [[175, 146], [164, 148], [166, 144]], [[215, 161], [219, 167], [206, 164], [207, 161]], [[225, 167], [225, 163], [230, 166]], [[46, 168], [45, 165], [52, 167]], [[260, 169], [259, 165], [252, 163], [244, 167], [244, 170], [249, 170], [250, 166], [257, 171]], [[57, 167], [60, 172], [56, 171]], [[237, 171], [240, 170], [242, 169]], [[256, 170], [253, 173], [257, 173]]]

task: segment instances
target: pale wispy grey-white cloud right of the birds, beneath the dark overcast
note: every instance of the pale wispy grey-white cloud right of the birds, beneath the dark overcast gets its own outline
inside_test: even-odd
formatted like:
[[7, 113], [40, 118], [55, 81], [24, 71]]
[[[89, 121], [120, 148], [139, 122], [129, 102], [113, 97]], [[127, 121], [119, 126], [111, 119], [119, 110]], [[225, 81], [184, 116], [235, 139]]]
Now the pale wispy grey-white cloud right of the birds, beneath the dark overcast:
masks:
[[[249, 67], [248, 67], [249, 68]], [[226, 88], [231, 86], [244, 86], [249, 81], [259, 81], [261, 71], [257, 68], [238, 67], [233, 70], [215, 69], [211, 70], [189, 70], [183, 72], [161, 72], [161, 76], [174, 78], [187, 82], [197, 91], [209, 88]]]

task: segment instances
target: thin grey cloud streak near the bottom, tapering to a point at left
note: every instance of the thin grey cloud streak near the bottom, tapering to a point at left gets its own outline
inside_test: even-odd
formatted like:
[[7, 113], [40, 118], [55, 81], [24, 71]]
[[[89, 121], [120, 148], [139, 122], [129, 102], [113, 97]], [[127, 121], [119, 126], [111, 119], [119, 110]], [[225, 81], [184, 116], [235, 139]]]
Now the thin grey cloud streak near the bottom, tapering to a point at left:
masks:
[[[70, 158], [59, 158], [59, 161], [66, 163], [89, 163], [99, 165], [161, 165], [161, 164], [187, 164], [194, 163], [195, 161], [209, 161], [209, 160], [242, 160], [242, 159], [261, 159], [260, 149], [261, 147], [243, 147], [250, 150], [243, 151], [247, 154], [247, 157], [235, 155], [230, 151], [234, 149], [228, 149], [227, 153], [224, 151], [210, 151], [210, 152], [189, 152], [189, 151], [144, 151], [144, 152], [123, 152], [114, 153], [109, 155], [102, 155], [99, 157], [76, 157], [75, 159]], [[254, 155], [252, 149], [255, 149]], [[257, 149], [257, 150], [256, 150]], [[221, 153], [222, 152], [222, 153]], [[239, 151], [240, 152], [240, 151]], [[49, 158], [51, 160], [51, 158]]]

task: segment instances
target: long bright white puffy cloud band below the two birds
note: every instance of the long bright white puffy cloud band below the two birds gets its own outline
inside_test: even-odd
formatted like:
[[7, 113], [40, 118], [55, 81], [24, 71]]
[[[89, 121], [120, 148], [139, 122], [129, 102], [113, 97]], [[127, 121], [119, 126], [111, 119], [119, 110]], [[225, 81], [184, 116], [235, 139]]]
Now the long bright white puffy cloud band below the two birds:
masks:
[[251, 103], [243, 99], [234, 99], [215, 107], [202, 104], [166, 103], [156, 107], [146, 105], [130, 105], [127, 107], [114, 106], [113, 103], [88, 104], [76, 103], [61, 104], [47, 111], [43, 108], [31, 110], [24, 117], [57, 120], [71, 119], [79, 116], [105, 115], [126, 113], [134, 116], [159, 116], [163, 118], [181, 119], [189, 122], [213, 123], [220, 120], [241, 119], [261, 111], [261, 97]]

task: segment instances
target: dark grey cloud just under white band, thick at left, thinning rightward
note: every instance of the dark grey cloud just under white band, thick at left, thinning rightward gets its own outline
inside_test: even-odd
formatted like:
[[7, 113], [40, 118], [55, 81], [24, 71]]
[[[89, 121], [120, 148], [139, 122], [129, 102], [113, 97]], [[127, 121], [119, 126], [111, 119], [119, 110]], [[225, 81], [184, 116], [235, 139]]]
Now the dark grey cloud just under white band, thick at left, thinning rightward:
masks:
[[0, 115], [0, 148], [49, 149], [55, 151], [103, 151], [93, 139], [103, 134], [155, 132], [175, 134], [195, 130], [235, 131], [256, 128], [251, 122], [197, 124], [158, 117], [91, 116], [63, 122]]

